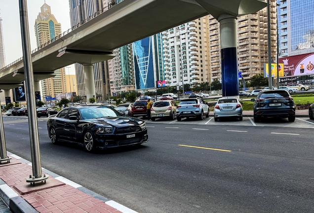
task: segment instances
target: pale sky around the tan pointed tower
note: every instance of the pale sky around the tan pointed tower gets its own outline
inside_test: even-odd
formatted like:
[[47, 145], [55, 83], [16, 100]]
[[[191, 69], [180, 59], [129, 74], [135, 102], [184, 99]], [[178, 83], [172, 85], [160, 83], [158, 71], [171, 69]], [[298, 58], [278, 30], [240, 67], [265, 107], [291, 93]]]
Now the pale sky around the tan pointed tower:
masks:
[[[51, 8], [51, 13], [57, 21], [61, 23], [62, 32], [71, 28], [69, 0], [27, 0], [28, 21], [31, 50], [37, 48], [35, 36], [35, 19], [40, 12], [40, 7], [47, 3]], [[2, 19], [2, 33], [4, 41], [5, 64], [21, 58], [22, 39], [19, 14], [19, 0], [0, 0], [0, 18]], [[68, 66], [70, 74], [75, 74], [74, 65]]]

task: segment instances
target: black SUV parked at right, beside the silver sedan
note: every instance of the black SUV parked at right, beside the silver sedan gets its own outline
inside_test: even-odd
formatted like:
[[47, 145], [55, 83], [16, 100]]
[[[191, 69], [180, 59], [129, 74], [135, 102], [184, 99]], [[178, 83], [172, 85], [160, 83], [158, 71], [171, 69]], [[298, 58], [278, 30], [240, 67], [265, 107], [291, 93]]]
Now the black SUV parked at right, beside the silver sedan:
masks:
[[287, 117], [290, 122], [295, 121], [295, 104], [286, 90], [264, 90], [251, 100], [254, 101], [254, 122], [268, 117]]

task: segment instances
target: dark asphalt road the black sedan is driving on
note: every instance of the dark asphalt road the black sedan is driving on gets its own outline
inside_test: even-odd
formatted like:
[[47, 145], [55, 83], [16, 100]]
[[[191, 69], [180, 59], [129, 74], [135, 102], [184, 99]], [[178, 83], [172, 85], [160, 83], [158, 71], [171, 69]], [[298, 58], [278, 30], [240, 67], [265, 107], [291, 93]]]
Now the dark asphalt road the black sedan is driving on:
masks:
[[[139, 213], [314, 211], [313, 127], [148, 122], [148, 143], [90, 154], [53, 145], [45, 120], [43, 168]], [[31, 161], [27, 118], [3, 121], [7, 150]]]

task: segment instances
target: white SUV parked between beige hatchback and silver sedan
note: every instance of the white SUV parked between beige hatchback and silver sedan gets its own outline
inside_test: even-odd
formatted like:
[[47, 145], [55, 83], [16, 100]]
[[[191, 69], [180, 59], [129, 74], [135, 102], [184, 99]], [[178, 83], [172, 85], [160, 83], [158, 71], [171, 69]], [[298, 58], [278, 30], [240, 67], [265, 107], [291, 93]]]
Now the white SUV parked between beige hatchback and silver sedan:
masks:
[[197, 117], [199, 120], [203, 120], [204, 114], [209, 117], [209, 107], [201, 98], [183, 99], [177, 106], [176, 116], [178, 121], [181, 121], [184, 117]]

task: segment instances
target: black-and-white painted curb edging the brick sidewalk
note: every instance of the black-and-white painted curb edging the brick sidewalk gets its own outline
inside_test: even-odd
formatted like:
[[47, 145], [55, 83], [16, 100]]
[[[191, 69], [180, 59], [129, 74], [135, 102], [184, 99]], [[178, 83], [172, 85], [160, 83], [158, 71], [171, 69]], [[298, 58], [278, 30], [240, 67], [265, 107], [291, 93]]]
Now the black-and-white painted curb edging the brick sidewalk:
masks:
[[[28, 165], [32, 165], [32, 162], [29, 162], [28, 160], [25, 160], [13, 153], [10, 153], [7, 151], [7, 154], [10, 155], [11, 157], [16, 158], [19, 161], [22, 161]], [[77, 188], [79, 191], [90, 195], [91, 197], [94, 197], [105, 204], [117, 209], [121, 213], [137, 213], [113, 200], [110, 200], [100, 194], [97, 194], [81, 185], [78, 183], [75, 183], [67, 178], [64, 178], [62, 176], [59, 176], [53, 172], [50, 172], [49, 170], [46, 170], [44, 168], [41, 168], [42, 172], [48, 174], [49, 176], [58, 179], [61, 182], [64, 182], [68, 185], [71, 185], [72, 187]], [[20, 197], [13, 189], [11, 189], [1, 178], [0, 178], [0, 198], [4, 202], [4, 204], [9, 207], [10, 211], [12, 213], [38, 213], [38, 211], [35, 210], [29, 203], [27, 203], [22, 197]]]

